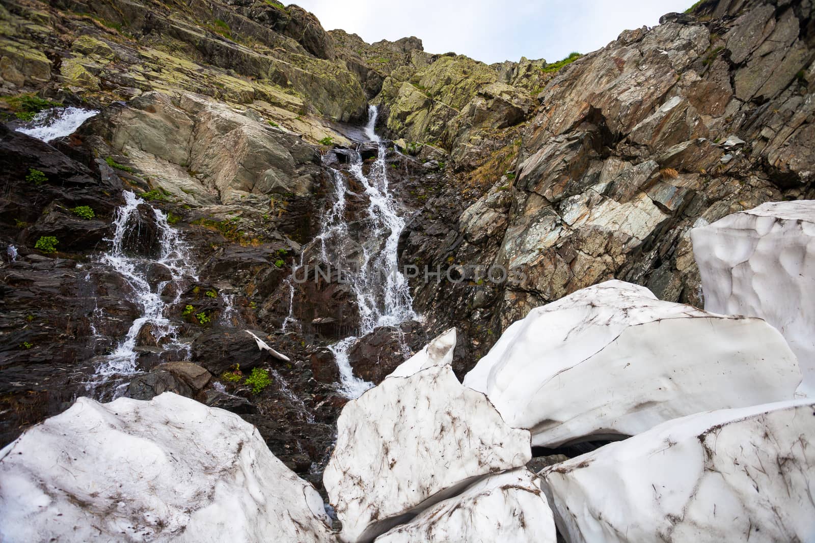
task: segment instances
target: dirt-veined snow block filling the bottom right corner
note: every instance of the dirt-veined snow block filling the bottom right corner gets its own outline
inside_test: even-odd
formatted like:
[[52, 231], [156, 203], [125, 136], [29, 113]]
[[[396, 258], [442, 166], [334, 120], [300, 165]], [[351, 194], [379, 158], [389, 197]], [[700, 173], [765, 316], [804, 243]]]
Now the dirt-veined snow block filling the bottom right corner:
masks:
[[541, 471], [569, 543], [815, 541], [815, 403], [690, 415]]

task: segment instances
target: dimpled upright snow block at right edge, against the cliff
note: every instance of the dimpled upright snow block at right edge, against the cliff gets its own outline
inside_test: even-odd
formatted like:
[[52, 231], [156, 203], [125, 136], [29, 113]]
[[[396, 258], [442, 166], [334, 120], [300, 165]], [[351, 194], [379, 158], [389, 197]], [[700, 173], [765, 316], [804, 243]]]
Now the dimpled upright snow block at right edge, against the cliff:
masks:
[[705, 309], [778, 328], [815, 392], [815, 200], [770, 202], [690, 231]]

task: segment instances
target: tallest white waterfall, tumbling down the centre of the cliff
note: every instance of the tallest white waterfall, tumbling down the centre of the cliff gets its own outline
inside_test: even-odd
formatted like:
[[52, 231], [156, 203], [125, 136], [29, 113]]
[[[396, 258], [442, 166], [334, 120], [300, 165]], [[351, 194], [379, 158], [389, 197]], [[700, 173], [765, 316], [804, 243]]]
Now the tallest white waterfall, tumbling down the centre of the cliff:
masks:
[[[321, 263], [343, 270], [343, 280], [349, 283], [359, 309], [356, 335], [329, 346], [340, 370], [340, 392], [350, 398], [359, 397], [373, 386], [356, 377], [351, 368], [348, 350], [355, 340], [377, 326], [398, 326], [401, 322], [416, 318], [407, 279], [399, 270], [399, 235], [404, 230], [405, 221], [399, 216], [396, 202], [390, 194], [385, 146], [374, 132], [376, 123], [377, 108], [371, 106], [365, 134], [372, 142], [379, 144], [377, 160], [371, 164], [368, 175], [365, 175], [362, 156], [355, 152], [349, 169], [351, 175], [363, 186], [369, 199], [367, 217], [364, 217], [365, 239], [359, 240], [361, 254], [354, 262], [346, 261], [344, 248], [348, 248], [351, 237], [345, 218], [347, 186], [345, 177], [337, 170], [332, 170], [334, 190], [331, 208], [323, 217], [320, 233], [304, 248], [305, 253], [311, 247], [319, 247]], [[301, 258], [300, 265], [293, 270], [293, 278], [297, 277], [297, 270], [302, 265]], [[296, 322], [293, 317], [293, 278], [289, 278], [289, 316], [284, 321], [284, 330], [286, 326]]]

